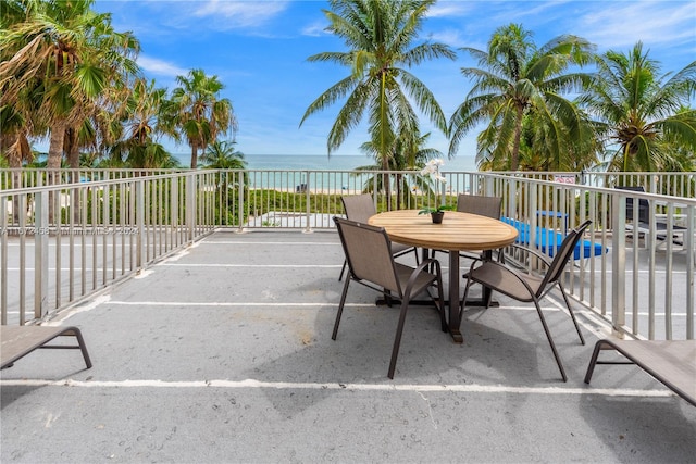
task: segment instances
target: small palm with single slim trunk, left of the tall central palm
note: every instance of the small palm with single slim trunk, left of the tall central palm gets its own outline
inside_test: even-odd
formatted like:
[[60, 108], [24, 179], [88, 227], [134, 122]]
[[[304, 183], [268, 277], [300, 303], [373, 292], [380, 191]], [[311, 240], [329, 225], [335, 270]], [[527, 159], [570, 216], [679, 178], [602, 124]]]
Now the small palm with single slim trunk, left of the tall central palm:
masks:
[[177, 76], [172, 92], [172, 123], [191, 148], [191, 168], [198, 165], [198, 152], [206, 150], [219, 135], [237, 130], [232, 102], [220, 98], [225, 86], [217, 76], [209, 77], [203, 70], [191, 70]]

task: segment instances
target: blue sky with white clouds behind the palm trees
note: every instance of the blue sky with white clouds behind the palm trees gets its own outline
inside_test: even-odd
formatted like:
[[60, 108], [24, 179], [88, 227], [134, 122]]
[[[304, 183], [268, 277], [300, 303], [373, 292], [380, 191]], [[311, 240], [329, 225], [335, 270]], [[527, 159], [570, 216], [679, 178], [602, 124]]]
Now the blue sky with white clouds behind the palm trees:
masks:
[[[345, 51], [324, 32], [325, 1], [238, 0], [97, 0], [96, 10], [112, 13], [116, 30], [132, 30], [140, 40], [138, 64], [148, 78], [170, 90], [175, 77], [191, 68], [216, 75], [225, 85], [239, 121], [237, 149], [246, 154], [323, 154], [339, 105], [310, 116], [308, 105], [345, 77], [348, 70], [307, 58]], [[641, 40], [662, 71], [679, 71], [696, 59], [696, 1], [439, 1], [431, 9], [421, 37], [453, 49], [486, 49], [493, 32], [519, 23], [534, 33], [537, 46], [561, 34], [581, 36], [598, 51], [627, 52]], [[463, 101], [470, 83], [460, 74], [472, 62], [458, 50], [456, 61], [426, 62], [411, 72], [434, 92], [449, 117]], [[430, 146], [447, 153], [446, 138], [432, 131]], [[458, 154], [475, 154], [475, 136], [460, 143]], [[368, 139], [357, 127], [334, 152], [361, 154]], [[162, 140], [177, 153], [187, 146]]]

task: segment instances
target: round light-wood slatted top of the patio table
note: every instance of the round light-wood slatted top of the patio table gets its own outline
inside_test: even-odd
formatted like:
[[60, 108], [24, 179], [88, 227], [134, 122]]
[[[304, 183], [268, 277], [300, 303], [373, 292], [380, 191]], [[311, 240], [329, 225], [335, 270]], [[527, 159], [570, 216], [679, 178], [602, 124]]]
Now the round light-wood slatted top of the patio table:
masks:
[[368, 220], [384, 227], [393, 241], [443, 250], [495, 250], [514, 242], [518, 229], [501, 221], [477, 214], [446, 211], [442, 224], [418, 210], [397, 210]]

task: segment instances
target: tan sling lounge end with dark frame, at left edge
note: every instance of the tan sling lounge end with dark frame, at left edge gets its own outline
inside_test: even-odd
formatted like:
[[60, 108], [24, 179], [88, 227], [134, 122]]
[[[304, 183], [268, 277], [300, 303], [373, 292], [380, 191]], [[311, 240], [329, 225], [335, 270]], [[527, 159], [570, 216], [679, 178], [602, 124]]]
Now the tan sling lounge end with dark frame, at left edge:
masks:
[[[79, 349], [83, 352], [87, 368], [91, 367], [91, 360], [83, 335], [77, 327], [46, 327], [46, 326], [0, 326], [0, 369], [10, 367], [21, 358], [26, 356], [38, 348]], [[57, 337], [75, 337], [77, 344], [46, 344]]]

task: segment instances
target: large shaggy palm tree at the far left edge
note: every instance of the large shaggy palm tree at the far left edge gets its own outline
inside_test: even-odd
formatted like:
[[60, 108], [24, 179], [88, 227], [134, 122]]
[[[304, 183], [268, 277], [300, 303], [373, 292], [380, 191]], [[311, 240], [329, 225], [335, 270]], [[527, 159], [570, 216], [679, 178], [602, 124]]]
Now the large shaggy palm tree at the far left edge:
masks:
[[[127, 87], [129, 76], [138, 73], [134, 59], [139, 45], [130, 33], [112, 28], [110, 14], [94, 12], [94, 0], [12, 3], [23, 9], [24, 21], [12, 24], [4, 37], [12, 58], [3, 55], [0, 65], [1, 102], [16, 103], [23, 89], [36, 89], [41, 99], [36, 117], [50, 126], [48, 167], [60, 167], [66, 147], [75, 164], [80, 127], [107, 104], [102, 99], [109, 89]], [[20, 16], [14, 14], [13, 21]]]

